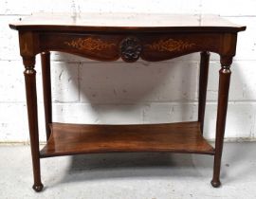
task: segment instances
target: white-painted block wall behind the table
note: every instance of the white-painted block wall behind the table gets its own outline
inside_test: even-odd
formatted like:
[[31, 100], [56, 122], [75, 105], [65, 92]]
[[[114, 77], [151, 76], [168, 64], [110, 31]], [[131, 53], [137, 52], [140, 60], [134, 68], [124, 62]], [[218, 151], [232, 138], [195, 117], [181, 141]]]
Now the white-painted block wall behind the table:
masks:
[[[6, 0], [0, 2], [0, 142], [27, 142], [23, 64], [9, 23], [32, 12], [213, 13], [247, 26], [231, 66], [226, 139], [253, 140], [256, 114], [254, 0]], [[168, 19], [166, 19], [168, 20]], [[37, 57], [40, 139], [46, 140], [40, 57]], [[101, 63], [52, 52], [55, 121], [156, 123], [197, 119], [199, 53], [147, 63]], [[211, 53], [205, 136], [215, 136], [219, 56]]]

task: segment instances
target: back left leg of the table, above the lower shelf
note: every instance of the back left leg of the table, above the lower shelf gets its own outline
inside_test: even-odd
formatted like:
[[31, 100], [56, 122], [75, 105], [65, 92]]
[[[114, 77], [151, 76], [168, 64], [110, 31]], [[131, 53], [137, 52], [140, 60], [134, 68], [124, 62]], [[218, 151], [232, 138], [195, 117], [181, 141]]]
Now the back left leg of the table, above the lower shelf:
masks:
[[50, 85], [50, 53], [41, 53], [42, 63], [42, 78], [45, 104], [45, 118], [46, 118], [46, 139], [49, 139], [50, 128], [49, 123], [52, 122], [52, 108], [51, 108], [51, 85]]

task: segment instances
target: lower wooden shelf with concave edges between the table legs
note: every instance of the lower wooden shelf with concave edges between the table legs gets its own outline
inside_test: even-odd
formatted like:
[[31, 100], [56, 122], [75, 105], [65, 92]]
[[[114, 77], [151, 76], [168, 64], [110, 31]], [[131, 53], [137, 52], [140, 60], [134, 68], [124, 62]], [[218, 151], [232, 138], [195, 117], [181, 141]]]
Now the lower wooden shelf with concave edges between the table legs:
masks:
[[214, 154], [199, 122], [139, 125], [50, 124], [41, 157], [106, 152]]

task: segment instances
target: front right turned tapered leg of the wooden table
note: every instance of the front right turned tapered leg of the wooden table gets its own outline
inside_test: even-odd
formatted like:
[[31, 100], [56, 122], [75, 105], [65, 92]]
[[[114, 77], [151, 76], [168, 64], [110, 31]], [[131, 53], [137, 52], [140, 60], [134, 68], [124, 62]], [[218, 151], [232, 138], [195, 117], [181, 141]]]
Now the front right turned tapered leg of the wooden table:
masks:
[[225, 135], [225, 124], [228, 109], [229, 99], [229, 81], [231, 71], [229, 69], [232, 58], [222, 58], [222, 67], [219, 71], [219, 95], [218, 95], [218, 110], [217, 110], [217, 122], [216, 122], [216, 140], [215, 140], [215, 155], [214, 155], [214, 168], [213, 178], [211, 185], [214, 188], [218, 188], [221, 185], [220, 182], [220, 169], [221, 169], [221, 156], [223, 149], [223, 139]]

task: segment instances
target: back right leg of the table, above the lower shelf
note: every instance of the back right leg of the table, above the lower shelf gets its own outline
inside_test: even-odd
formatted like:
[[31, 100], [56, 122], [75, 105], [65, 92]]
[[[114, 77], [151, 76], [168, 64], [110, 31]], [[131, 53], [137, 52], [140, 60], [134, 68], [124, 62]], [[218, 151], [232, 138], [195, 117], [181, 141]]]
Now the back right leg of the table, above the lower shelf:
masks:
[[210, 60], [210, 53], [207, 51], [201, 52], [200, 76], [199, 76], [198, 121], [200, 122], [200, 130], [202, 134], [204, 130], [204, 120], [205, 120], [209, 60]]

